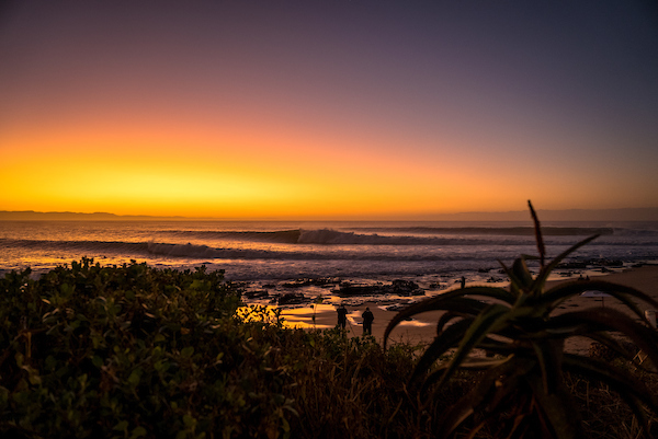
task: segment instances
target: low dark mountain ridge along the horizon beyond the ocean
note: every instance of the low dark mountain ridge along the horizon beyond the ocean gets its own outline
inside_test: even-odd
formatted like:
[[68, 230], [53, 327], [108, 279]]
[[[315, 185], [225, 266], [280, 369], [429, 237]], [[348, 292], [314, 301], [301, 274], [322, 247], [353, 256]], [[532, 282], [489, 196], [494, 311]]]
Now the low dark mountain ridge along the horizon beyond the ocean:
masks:
[[[542, 221], [658, 221], [658, 207], [623, 208], [623, 209], [567, 209], [567, 210], [537, 210]], [[0, 210], [0, 221], [121, 221], [121, 220], [222, 220], [223, 218], [194, 218], [194, 217], [158, 217], [147, 215], [115, 215], [109, 212], [81, 213], [70, 211], [39, 212], [34, 210], [10, 211]], [[239, 218], [231, 218], [239, 220]], [[266, 219], [265, 219], [266, 220]], [[287, 220], [287, 219], [286, 219]], [[321, 219], [318, 219], [321, 220]], [[354, 220], [348, 219], [348, 220]], [[368, 218], [367, 220], [376, 220]], [[390, 220], [381, 218], [381, 220]], [[461, 212], [461, 213], [424, 213], [419, 216], [399, 218], [399, 220], [419, 221], [529, 221], [527, 210], [504, 212]]]

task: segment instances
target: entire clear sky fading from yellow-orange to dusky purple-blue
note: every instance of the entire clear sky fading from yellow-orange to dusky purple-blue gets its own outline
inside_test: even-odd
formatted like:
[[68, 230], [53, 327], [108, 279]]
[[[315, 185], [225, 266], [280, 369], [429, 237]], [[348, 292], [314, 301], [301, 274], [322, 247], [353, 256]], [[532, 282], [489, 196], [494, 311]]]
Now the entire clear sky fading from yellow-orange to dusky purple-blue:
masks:
[[650, 1], [16, 1], [0, 210], [658, 206]]

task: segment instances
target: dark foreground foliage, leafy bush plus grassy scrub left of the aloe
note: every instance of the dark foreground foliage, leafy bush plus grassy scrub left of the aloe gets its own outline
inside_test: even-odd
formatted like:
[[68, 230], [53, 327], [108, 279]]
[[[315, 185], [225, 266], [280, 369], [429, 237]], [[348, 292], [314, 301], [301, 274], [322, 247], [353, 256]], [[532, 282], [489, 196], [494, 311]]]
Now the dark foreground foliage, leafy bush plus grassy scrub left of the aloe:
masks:
[[372, 437], [401, 414], [402, 347], [236, 313], [222, 272], [84, 258], [30, 275], [0, 279], [3, 437]]

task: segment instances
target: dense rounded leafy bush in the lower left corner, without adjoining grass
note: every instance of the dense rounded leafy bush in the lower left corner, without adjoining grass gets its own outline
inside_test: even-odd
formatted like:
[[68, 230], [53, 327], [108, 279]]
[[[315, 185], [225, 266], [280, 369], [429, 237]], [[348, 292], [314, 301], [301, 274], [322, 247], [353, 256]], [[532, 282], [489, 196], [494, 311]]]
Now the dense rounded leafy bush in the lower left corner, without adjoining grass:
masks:
[[223, 273], [91, 259], [0, 279], [0, 431], [273, 437], [295, 411]]

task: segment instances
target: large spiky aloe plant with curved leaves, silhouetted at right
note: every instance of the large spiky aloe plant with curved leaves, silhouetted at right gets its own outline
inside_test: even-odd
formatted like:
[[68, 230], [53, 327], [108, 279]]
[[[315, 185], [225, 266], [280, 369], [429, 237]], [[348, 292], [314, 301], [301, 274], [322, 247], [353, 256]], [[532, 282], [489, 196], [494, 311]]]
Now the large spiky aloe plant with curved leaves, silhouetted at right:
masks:
[[[497, 435], [501, 437], [582, 437], [578, 409], [565, 385], [565, 372], [608, 384], [633, 411], [645, 437], [651, 437], [647, 411], [658, 413], [658, 401], [651, 392], [608, 362], [565, 351], [565, 342], [588, 337], [634, 361], [635, 353], [628, 353], [619, 342], [623, 336], [642, 349], [655, 368], [658, 333], [636, 301], [654, 308], [658, 303], [634, 288], [603, 280], [571, 281], [546, 289], [548, 275], [557, 264], [598, 235], [575, 244], [546, 264], [540, 221], [530, 201], [529, 207], [538, 257], [523, 255], [511, 267], [501, 263], [509, 288], [467, 287], [418, 302], [390, 321], [384, 346], [392, 330], [405, 319], [444, 311], [438, 321], [435, 339], [412, 373], [410, 389], [427, 397], [430, 389], [436, 392], [446, 386], [461, 369], [480, 372], [473, 390], [438, 420], [440, 437], [454, 436], [461, 426], [466, 428], [466, 421], [475, 434], [490, 420], [497, 421]], [[526, 264], [530, 259], [538, 261], [541, 267], [534, 277]], [[610, 308], [555, 312], [567, 299], [592, 289], [614, 297], [628, 312]], [[647, 362], [636, 366], [645, 367]]]

